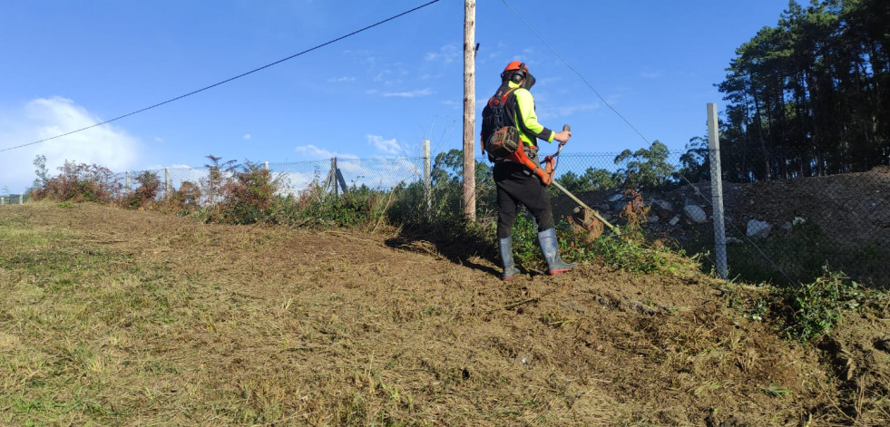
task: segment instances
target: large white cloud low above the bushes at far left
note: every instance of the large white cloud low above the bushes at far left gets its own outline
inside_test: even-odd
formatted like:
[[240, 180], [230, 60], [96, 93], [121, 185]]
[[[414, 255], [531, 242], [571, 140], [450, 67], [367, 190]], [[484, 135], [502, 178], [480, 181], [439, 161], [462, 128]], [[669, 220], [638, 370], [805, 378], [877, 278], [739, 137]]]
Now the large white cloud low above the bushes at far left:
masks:
[[[103, 119], [72, 100], [38, 98], [12, 111], [0, 112], [0, 149], [54, 138]], [[0, 187], [23, 191], [34, 182], [34, 157], [46, 156], [50, 176], [65, 160], [96, 164], [114, 172], [132, 169], [142, 146], [138, 139], [113, 124], [104, 124], [50, 141], [0, 152]]]

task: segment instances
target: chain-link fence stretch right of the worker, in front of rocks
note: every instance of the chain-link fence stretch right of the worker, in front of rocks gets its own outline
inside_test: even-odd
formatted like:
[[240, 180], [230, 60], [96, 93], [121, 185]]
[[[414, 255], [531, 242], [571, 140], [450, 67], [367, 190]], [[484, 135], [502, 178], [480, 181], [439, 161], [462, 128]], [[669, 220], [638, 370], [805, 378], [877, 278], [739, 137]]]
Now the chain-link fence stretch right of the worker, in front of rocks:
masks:
[[[604, 218], [621, 222], [621, 208], [630, 200], [623, 191], [637, 189], [648, 207], [643, 227], [650, 238], [702, 254], [714, 266], [707, 150], [560, 157], [557, 180]], [[733, 166], [734, 176], [745, 176]], [[727, 180], [724, 170], [720, 199], [729, 277], [807, 282], [827, 267], [869, 286], [890, 286], [890, 167], [827, 176], [816, 176], [816, 167], [807, 169], [812, 175], [800, 170], [796, 178], [742, 182]], [[574, 202], [551, 192], [554, 213], [570, 215]]]

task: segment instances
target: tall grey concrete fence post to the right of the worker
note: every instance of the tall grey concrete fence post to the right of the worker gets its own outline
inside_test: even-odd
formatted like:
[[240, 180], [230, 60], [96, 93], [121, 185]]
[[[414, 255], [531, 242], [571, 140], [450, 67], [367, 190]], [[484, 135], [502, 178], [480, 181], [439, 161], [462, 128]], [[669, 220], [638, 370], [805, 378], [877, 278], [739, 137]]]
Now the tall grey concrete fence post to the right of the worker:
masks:
[[717, 274], [726, 279], [729, 274], [726, 260], [726, 227], [723, 223], [723, 173], [720, 170], [720, 136], [717, 104], [708, 104], [708, 145], [710, 153], [710, 197], [714, 207], [714, 255]]

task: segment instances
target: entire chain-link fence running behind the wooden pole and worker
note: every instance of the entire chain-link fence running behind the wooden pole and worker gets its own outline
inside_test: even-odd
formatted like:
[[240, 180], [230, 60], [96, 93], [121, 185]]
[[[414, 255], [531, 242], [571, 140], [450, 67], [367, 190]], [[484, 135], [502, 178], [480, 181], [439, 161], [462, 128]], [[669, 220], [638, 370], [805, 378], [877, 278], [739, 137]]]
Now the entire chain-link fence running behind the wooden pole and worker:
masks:
[[[429, 159], [424, 157], [337, 158], [262, 163], [261, 167], [279, 180], [282, 195], [298, 196], [312, 187], [388, 191], [399, 184], [429, 182], [427, 170], [445, 167], [446, 173], [433, 173], [434, 177], [459, 180], [454, 163], [429, 168], [425, 167]], [[793, 179], [739, 182], [738, 177], [753, 175], [745, 175], [739, 165], [731, 167], [736, 179], [727, 180], [729, 174], [724, 173], [721, 198], [730, 277], [796, 283], [813, 280], [828, 267], [868, 285], [890, 286], [890, 168], [830, 176], [809, 176], [820, 169], [807, 168], [807, 173], [793, 174], [797, 176]], [[229, 165], [228, 170], [238, 168]], [[164, 197], [166, 191], [179, 189], [185, 182], [201, 185], [210, 170], [170, 168], [126, 172], [117, 178], [132, 191], [139, 185], [138, 177], [151, 172], [160, 178], [160, 197]], [[672, 153], [653, 144], [634, 152], [564, 153], [556, 180], [604, 218], [619, 223], [619, 212], [629, 201], [624, 189], [638, 190], [649, 208], [644, 227], [651, 238], [672, 242], [690, 254], [705, 254], [706, 263], [713, 260], [709, 254], [716, 245], [715, 198], [707, 149]], [[492, 189], [477, 188], [482, 191], [492, 194]], [[554, 213], [560, 218], [571, 215], [574, 202], [560, 197], [553, 187], [551, 192]], [[447, 192], [450, 197], [459, 193]]]

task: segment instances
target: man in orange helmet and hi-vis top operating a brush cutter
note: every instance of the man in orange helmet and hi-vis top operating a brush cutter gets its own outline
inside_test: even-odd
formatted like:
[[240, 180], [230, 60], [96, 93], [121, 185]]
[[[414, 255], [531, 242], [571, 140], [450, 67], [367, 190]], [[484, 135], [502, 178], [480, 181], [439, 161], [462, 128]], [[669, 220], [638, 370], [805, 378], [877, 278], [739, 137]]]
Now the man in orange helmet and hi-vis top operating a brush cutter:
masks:
[[[501, 87], [494, 92], [482, 112], [482, 149], [494, 161], [494, 184], [497, 186], [497, 246], [503, 262], [503, 280], [519, 273], [513, 264], [511, 234], [516, 208], [522, 204], [538, 224], [538, 243], [547, 261], [548, 272], [558, 275], [575, 267], [559, 256], [553, 208], [546, 186], [553, 180], [553, 162], [542, 168], [538, 160], [537, 140], [563, 144], [569, 141], [569, 130], [552, 131], [537, 120], [534, 99], [529, 90], [534, 77], [524, 63], [508, 63], [501, 73]], [[550, 169], [548, 171], [547, 169]]]

